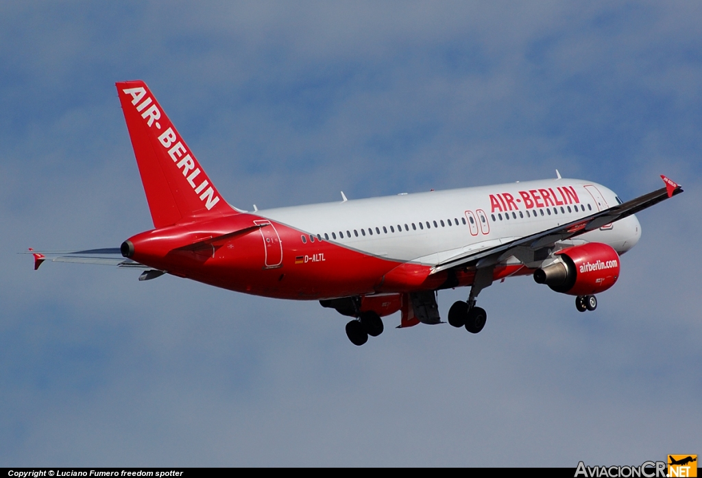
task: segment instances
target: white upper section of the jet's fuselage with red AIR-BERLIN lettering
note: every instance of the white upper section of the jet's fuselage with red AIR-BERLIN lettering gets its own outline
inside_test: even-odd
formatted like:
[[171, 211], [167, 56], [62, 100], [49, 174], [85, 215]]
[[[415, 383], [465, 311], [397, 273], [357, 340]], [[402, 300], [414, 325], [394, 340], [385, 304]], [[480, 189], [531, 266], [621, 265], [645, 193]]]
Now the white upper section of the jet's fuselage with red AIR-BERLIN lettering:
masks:
[[[618, 202], [616, 194], [602, 185], [552, 179], [275, 208], [258, 214], [370, 255], [435, 265], [458, 253], [570, 223]], [[582, 234], [571, 244], [602, 242], [621, 254], [640, 236], [640, 223], [631, 215]]]

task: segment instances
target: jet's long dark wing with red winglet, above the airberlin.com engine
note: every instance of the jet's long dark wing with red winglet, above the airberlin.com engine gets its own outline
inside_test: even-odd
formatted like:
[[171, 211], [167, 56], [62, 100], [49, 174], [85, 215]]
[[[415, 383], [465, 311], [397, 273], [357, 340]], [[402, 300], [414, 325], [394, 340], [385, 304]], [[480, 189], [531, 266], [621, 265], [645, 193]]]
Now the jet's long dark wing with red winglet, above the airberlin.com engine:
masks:
[[[537, 249], [545, 246], [552, 246], [557, 241], [570, 239], [571, 237], [579, 236], [585, 232], [596, 230], [603, 225], [614, 223], [615, 221], [626, 218], [639, 211], [643, 211], [646, 208], [654, 206], [654, 204], [658, 204], [659, 202], [665, 201], [665, 199], [682, 192], [682, 187], [680, 187], [680, 185], [677, 185], [664, 175], [661, 175], [661, 178], [663, 178], [663, 182], [665, 182], [665, 187], [661, 187], [659, 190], [649, 192], [649, 194], [644, 194], [643, 196], [637, 197], [636, 199], [632, 199], [631, 201], [627, 201], [623, 204], [618, 204], [618, 206], [590, 214], [585, 218], [574, 220], [571, 223], [552, 227], [551, 229], [536, 232], [536, 234], [531, 234], [519, 239], [514, 239], [499, 246], [486, 248], [482, 251], [468, 251], [454, 255], [451, 258], [442, 260], [437, 265], [432, 267], [431, 273], [436, 274], [442, 270], [460, 267], [473, 261], [486, 258], [491, 258], [498, 261], [513, 255], [516, 248], [526, 247], [532, 251], [536, 251]], [[489, 262], [492, 263], [493, 261], [490, 260]], [[479, 264], [477, 265], [479, 266]]]

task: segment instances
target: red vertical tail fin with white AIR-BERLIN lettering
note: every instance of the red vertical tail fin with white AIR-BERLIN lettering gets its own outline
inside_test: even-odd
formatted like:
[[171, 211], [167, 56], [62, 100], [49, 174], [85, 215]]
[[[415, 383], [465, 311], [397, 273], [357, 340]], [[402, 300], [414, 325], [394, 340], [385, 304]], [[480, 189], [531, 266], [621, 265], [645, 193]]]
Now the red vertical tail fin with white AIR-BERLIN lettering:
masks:
[[236, 211], [222, 199], [143, 81], [117, 83], [154, 227]]

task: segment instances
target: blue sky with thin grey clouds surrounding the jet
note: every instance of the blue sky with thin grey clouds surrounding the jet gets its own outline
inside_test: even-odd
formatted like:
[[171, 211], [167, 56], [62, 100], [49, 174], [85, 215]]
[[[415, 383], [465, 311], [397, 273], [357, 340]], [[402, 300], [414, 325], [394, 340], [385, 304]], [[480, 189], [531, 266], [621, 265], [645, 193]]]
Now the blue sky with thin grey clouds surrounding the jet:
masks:
[[[702, 5], [0, 5], [0, 463], [595, 465], [700, 453]], [[114, 82], [227, 201], [564, 177], [685, 194], [595, 313], [527, 278], [351, 345], [316, 302], [46, 264], [152, 227]], [[446, 314], [467, 290], [442, 291]]]

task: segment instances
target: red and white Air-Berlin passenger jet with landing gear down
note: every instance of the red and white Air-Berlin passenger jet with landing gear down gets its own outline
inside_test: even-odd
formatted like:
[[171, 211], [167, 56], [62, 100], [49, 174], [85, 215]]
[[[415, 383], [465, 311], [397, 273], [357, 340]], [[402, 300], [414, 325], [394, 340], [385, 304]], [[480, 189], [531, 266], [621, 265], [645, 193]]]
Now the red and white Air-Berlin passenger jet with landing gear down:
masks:
[[451, 326], [479, 333], [486, 312], [477, 297], [507, 277], [597, 307], [614, 286], [620, 255], [637, 244], [635, 213], [682, 193], [665, 187], [623, 202], [607, 187], [557, 178], [399, 194], [308, 206], [244, 211], [225, 201], [144, 81], [116, 84], [154, 228], [119, 248], [34, 254], [45, 260], [143, 269], [230, 291], [319, 300], [351, 317], [355, 345], [397, 328], [444, 323], [437, 291], [469, 287], [451, 305]]

